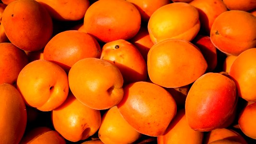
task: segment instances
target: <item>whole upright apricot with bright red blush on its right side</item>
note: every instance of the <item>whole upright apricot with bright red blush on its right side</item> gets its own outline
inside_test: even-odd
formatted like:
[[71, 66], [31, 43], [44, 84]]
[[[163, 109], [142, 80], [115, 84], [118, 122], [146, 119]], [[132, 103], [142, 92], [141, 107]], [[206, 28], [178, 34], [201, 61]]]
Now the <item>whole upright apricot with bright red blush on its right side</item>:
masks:
[[196, 131], [212, 131], [226, 126], [236, 104], [236, 85], [232, 79], [208, 72], [191, 86], [185, 101], [189, 126]]

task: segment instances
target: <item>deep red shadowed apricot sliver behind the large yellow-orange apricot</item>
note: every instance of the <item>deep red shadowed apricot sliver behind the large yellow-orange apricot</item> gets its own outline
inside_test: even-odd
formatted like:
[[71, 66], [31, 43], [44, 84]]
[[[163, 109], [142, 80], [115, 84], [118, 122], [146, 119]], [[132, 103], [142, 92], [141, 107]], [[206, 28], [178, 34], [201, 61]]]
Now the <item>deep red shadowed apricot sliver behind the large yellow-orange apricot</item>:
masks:
[[210, 36], [197, 35], [192, 42], [207, 61], [207, 72], [212, 72], [217, 66], [217, 48], [212, 44]]

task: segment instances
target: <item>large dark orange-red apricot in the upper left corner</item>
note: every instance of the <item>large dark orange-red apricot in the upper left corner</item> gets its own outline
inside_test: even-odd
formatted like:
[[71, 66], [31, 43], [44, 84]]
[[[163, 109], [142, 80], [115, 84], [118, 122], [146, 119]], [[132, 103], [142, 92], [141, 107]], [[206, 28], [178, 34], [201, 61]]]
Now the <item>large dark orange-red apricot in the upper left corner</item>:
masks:
[[2, 24], [12, 44], [29, 51], [44, 48], [53, 31], [49, 13], [35, 0], [15, 0], [8, 4]]

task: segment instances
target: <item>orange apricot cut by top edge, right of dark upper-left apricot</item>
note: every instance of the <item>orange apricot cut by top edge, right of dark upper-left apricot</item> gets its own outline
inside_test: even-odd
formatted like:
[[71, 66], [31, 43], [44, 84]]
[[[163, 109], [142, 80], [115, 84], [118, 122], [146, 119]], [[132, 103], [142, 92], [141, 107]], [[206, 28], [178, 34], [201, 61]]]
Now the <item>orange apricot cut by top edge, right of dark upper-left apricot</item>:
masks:
[[43, 5], [53, 19], [78, 21], [84, 18], [90, 6], [89, 0], [36, 0]]

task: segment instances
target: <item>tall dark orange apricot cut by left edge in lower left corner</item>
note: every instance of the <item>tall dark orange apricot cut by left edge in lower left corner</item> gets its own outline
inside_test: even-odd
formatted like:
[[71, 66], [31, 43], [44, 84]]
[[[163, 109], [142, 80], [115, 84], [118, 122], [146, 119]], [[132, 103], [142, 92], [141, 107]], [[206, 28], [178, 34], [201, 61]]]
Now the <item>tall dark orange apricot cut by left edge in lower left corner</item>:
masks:
[[11, 84], [0, 84], [0, 143], [19, 144], [27, 122], [24, 100]]

